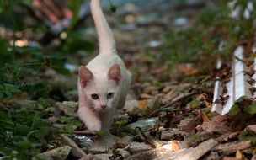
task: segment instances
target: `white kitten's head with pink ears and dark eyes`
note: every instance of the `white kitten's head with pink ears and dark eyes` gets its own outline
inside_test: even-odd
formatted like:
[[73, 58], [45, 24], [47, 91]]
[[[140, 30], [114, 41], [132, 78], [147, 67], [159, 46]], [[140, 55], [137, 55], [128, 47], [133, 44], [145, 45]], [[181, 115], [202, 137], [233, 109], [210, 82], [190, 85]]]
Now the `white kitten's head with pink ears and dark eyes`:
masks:
[[104, 111], [116, 104], [120, 94], [121, 70], [118, 64], [109, 68], [108, 72], [95, 73], [87, 67], [79, 69], [79, 84], [83, 96], [92, 104], [93, 109]]

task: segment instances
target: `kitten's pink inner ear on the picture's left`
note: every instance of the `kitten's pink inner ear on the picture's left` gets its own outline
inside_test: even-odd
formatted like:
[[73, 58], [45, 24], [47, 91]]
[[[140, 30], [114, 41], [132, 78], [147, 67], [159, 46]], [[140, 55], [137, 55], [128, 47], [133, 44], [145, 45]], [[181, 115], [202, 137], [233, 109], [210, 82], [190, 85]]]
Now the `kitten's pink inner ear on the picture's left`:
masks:
[[79, 83], [82, 88], [85, 88], [90, 80], [93, 79], [93, 73], [87, 67], [80, 67], [79, 69]]

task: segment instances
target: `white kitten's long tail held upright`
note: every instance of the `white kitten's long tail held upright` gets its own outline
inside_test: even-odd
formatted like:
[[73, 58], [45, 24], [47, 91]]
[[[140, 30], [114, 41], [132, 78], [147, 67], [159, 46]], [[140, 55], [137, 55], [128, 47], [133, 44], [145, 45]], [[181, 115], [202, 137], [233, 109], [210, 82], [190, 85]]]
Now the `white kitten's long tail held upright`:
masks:
[[99, 37], [99, 54], [116, 53], [114, 36], [100, 8], [100, 0], [91, 0], [91, 12]]

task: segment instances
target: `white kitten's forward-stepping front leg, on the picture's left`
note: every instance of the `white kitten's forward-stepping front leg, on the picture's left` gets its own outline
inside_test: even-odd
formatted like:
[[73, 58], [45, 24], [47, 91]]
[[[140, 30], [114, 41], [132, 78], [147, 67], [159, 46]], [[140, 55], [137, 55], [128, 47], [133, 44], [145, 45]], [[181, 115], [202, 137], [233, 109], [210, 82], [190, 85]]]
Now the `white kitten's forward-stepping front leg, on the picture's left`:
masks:
[[92, 109], [89, 109], [88, 106], [83, 105], [79, 102], [78, 116], [80, 120], [83, 121], [89, 131], [100, 131], [101, 122], [98, 115], [96, 115]]

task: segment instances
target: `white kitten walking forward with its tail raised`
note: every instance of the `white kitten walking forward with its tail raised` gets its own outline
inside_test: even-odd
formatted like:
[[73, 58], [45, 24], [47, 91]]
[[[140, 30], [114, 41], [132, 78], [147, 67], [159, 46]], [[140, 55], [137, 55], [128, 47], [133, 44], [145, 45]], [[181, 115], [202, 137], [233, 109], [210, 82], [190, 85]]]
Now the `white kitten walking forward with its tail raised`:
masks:
[[131, 73], [117, 55], [100, 0], [91, 1], [91, 12], [99, 36], [99, 55], [79, 69], [78, 115], [89, 131], [109, 131], [115, 110], [125, 105]]

